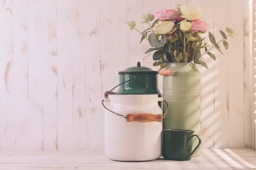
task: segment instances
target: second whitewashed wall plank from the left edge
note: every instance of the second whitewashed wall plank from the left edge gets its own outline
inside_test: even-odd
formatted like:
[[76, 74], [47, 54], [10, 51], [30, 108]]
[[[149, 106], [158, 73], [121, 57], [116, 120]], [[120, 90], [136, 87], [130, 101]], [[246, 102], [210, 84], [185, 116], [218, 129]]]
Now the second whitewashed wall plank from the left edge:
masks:
[[15, 150], [29, 150], [28, 0], [13, 1]]

